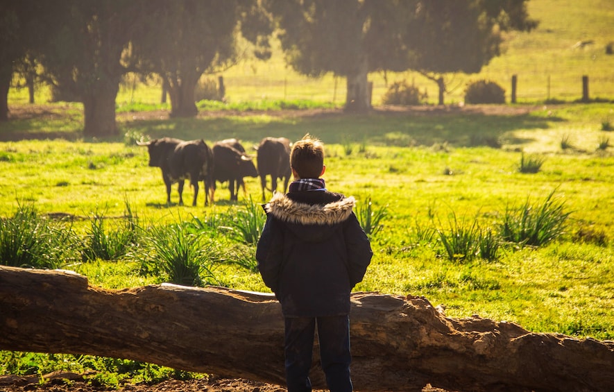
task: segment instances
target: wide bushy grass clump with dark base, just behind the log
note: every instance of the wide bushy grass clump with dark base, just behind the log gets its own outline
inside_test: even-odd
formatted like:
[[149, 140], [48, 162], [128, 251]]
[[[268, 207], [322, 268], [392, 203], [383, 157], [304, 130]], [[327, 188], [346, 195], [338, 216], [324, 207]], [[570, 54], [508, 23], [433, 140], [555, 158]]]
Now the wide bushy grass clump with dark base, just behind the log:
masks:
[[146, 244], [139, 248], [142, 272], [184, 286], [216, 284], [214, 269], [221, 259], [220, 250], [215, 241], [204, 238], [178, 223], [148, 228]]

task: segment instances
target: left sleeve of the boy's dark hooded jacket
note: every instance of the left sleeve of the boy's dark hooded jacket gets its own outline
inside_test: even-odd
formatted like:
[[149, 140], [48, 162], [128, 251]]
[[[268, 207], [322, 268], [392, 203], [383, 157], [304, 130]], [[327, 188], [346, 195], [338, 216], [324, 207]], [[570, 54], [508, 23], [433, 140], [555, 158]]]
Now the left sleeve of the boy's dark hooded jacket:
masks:
[[279, 289], [280, 270], [283, 261], [282, 233], [279, 223], [270, 216], [262, 229], [262, 235], [256, 247], [258, 271], [266, 287], [277, 294]]

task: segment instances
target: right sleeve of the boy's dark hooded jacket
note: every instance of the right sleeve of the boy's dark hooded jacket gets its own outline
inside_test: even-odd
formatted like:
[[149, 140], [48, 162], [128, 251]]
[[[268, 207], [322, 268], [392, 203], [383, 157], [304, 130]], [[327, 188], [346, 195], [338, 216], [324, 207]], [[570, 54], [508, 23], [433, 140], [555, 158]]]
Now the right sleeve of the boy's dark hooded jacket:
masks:
[[346, 222], [344, 235], [346, 237], [346, 251], [348, 252], [350, 285], [355, 287], [364, 278], [371, 257], [373, 257], [373, 250], [371, 250], [370, 241], [353, 212]]

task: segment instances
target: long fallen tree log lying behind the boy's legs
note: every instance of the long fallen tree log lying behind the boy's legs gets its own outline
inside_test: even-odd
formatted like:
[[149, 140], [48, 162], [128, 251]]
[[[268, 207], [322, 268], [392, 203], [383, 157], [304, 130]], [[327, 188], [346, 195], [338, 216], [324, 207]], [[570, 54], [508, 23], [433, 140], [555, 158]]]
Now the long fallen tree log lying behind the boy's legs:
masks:
[[[447, 318], [425, 298], [352, 294], [357, 391], [614, 391], [614, 342]], [[0, 349], [135, 359], [284, 385], [266, 293], [171, 284], [105, 290], [69, 271], [0, 266]], [[312, 382], [325, 388], [317, 352]]]

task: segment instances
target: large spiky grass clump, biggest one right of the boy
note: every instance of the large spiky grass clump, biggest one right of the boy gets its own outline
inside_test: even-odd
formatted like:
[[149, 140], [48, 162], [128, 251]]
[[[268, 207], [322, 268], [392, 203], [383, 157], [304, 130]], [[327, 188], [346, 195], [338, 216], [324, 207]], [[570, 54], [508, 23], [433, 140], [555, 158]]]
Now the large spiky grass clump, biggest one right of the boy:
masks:
[[564, 201], [554, 198], [555, 191], [541, 205], [531, 205], [527, 198], [518, 208], [507, 206], [499, 228], [502, 239], [522, 246], [541, 246], [560, 237], [570, 212], [565, 211]]

